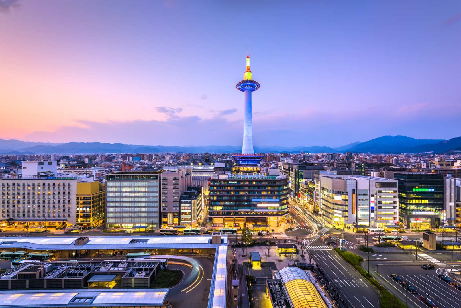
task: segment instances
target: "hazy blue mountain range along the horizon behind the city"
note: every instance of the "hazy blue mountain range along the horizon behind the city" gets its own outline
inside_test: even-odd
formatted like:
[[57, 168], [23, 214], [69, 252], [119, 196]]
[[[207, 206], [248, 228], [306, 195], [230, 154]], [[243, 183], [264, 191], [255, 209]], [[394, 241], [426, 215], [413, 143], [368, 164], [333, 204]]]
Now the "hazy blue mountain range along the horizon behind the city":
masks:
[[[80, 153], [237, 153], [241, 146], [208, 145], [208, 146], [164, 146], [164, 145], [127, 145], [122, 143], [100, 142], [26, 142], [21, 140], [0, 139], [0, 154], [80, 154]], [[299, 153], [443, 153], [450, 150], [461, 150], [461, 137], [449, 140], [443, 139], [414, 139], [407, 136], [382, 136], [365, 142], [354, 142], [348, 145], [331, 148], [328, 146], [256, 146], [255, 152], [289, 152]]]

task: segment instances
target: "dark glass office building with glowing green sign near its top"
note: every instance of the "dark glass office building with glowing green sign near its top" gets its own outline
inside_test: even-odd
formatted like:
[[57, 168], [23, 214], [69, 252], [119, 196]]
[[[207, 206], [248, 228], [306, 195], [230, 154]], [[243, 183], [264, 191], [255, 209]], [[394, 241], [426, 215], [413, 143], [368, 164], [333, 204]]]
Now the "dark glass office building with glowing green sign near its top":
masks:
[[443, 224], [442, 174], [394, 173], [399, 191], [399, 223], [404, 228], [434, 228]]

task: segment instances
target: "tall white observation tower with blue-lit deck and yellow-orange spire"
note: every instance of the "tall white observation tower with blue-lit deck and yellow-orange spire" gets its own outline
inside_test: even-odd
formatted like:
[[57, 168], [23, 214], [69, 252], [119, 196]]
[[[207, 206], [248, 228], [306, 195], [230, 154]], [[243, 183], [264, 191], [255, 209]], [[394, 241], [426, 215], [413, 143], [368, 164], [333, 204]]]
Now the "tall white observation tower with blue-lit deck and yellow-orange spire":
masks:
[[[250, 71], [250, 55], [247, 55], [247, 71], [243, 73], [243, 80], [240, 81], [236, 88], [245, 93], [245, 116], [243, 119], [243, 146], [242, 154], [233, 155], [235, 161], [239, 165], [257, 165], [263, 155], [254, 154], [253, 148], [253, 119], [251, 108], [251, 92], [258, 90], [260, 84], [251, 79]], [[240, 169], [239, 171], [243, 171]], [[246, 171], [256, 171], [256, 169], [248, 169]]]

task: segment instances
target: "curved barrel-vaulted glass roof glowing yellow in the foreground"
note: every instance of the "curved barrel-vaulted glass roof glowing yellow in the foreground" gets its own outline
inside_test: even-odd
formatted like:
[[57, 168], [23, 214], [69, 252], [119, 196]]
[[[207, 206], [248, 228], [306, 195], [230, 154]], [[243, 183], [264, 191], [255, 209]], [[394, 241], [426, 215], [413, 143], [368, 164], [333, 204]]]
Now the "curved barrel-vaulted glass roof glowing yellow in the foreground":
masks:
[[328, 308], [303, 270], [290, 266], [278, 272], [294, 308]]

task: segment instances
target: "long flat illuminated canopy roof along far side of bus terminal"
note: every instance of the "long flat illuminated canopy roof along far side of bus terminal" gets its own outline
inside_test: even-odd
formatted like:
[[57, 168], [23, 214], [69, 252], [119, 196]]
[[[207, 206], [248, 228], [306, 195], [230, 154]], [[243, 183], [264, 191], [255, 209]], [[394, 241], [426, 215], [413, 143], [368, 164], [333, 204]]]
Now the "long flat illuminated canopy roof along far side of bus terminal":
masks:
[[[160, 249], [160, 248], [217, 248], [212, 236], [89, 236], [88, 242], [75, 245], [81, 236], [0, 237], [0, 249], [25, 248], [33, 250], [72, 249]], [[227, 244], [227, 236], [222, 236]]]

